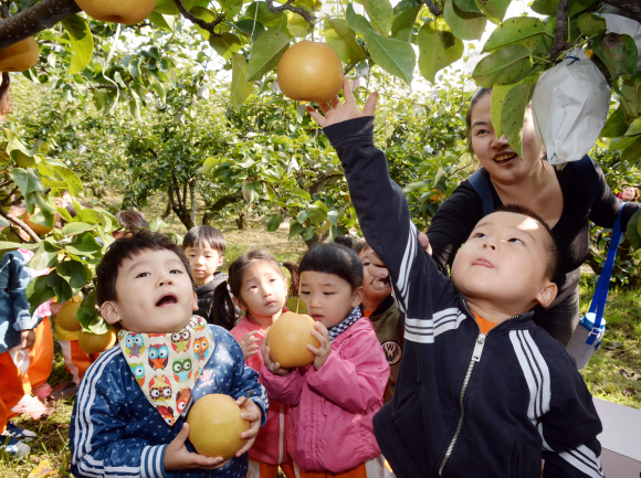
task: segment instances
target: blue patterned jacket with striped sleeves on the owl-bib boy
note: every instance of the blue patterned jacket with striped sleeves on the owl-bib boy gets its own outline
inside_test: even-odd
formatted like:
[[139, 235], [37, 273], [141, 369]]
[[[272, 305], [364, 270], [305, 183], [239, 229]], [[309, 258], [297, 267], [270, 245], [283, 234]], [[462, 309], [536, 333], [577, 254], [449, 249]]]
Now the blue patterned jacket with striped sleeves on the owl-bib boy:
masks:
[[[191, 392], [193, 400], [211, 393], [237, 400], [253, 391], [250, 400], [263, 411], [264, 424], [269, 402], [259, 374], [245, 367], [243, 352], [231, 333], [218, 326], [208, 327], [214, 344]], [[174, 426], [165, 422], [145, 397], [116, 346], [101, 354], [81, 382], [70, 428], [72, 472], [86, 478], [245, 477], [246, 453], [218, 470], [166, 472], [165, 450], [183, 423], [182, 418]], [[189, 442], [187, 446], [195, 452]]]

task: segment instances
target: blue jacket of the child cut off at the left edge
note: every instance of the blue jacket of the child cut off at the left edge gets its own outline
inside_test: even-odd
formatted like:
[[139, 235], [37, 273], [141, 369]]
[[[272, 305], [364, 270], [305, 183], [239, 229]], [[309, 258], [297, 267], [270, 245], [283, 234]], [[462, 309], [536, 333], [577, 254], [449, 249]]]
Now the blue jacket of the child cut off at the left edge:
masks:
[[38, 325], [38, 317], [29, 314], [27, 286], [31, 269], [24, 266], [19, 251], [6, 253], [0, 261], [0, 353], [20, 344], [20, 332]]

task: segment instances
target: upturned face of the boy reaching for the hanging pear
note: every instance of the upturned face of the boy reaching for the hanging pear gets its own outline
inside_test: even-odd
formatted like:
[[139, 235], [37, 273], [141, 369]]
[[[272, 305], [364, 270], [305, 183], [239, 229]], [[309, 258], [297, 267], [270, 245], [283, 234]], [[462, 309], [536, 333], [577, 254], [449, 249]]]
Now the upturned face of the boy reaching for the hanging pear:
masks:
[[537, 221], [496, 212], [483, 217], [456, 253], [452, 282], [470, 301], [484, 301], [516, 316], [556, 296], [546, 277], [550, 237]]

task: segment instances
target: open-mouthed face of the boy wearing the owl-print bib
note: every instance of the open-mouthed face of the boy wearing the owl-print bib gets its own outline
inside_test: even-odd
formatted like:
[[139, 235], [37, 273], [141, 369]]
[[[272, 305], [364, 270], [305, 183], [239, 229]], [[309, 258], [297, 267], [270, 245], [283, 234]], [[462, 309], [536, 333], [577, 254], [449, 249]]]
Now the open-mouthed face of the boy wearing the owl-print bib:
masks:
[[102, 305], [109, 323], [139, 333], [183, 329], [197, 309], [197, 297], [182, 261], [171, 251], [143, 251], [118, 268], [116, 300]]

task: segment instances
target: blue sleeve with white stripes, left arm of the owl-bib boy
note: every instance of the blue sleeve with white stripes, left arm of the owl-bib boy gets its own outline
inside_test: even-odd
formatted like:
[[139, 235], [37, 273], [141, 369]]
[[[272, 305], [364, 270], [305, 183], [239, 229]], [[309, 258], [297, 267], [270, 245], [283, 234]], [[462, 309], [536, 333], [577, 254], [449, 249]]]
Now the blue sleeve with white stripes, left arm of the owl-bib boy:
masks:
[[70, 427], [72, 471], [86, 478], [165, 478], [167, 445], [125, 437], [127, 393], [113, 367], [118, 353], [118, 347], [103, 353], [78, 389]]

